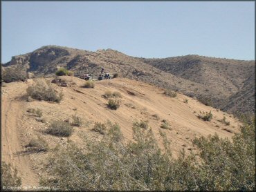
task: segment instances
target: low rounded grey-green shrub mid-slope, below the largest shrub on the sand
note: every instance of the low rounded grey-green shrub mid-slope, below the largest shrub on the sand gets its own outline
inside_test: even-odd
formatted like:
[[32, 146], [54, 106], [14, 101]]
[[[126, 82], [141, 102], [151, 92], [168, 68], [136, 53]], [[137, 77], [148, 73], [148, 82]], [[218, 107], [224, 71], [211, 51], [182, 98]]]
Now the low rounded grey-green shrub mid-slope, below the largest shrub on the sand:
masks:
[[57, 137], [68, 137], [73, 133], [73, 127], [67, 122], [62, 122], [62, 120], [57, 120], [51, 122], [51, 125], [46, 129], [49, 135], [55, 135]]

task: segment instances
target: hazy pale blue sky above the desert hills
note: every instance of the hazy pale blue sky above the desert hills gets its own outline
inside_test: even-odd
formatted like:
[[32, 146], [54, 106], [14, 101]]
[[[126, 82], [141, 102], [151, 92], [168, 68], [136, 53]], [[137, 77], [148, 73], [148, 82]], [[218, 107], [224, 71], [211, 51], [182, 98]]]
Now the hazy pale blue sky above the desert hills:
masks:
[[1, 59], [46, 45], [255, 59], [254, 1], [1, 1]]

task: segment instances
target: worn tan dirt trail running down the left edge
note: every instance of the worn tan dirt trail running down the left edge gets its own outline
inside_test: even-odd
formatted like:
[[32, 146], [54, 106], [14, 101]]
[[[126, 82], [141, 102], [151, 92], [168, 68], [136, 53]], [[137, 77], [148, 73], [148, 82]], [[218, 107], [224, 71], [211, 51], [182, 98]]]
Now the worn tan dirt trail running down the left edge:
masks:
[[[9, 86], [9, 85], [8, 85]], [[24, 148], [20, 140], [24, 102], [19, 98], [24, 94], [26, 84], [16, 83], [8, 87], [1, 101], [1, 153], [2, 160], [16, 166], [23, 186], [37, 186], [37, 175], [31, 171], [30, 159], [23, 154]]]

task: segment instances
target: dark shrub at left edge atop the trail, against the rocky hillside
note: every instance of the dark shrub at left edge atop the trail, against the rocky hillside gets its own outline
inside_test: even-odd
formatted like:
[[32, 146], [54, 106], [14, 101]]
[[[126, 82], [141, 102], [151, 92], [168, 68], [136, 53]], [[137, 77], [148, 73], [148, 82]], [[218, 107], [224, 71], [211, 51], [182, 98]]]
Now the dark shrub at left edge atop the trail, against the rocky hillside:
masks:
[[12, 81], [25, 81], [28, 79], [28, 74], [26, 73], [26, 70], [21, 67], [6, 68], [3, 72], [2, 79], [6, 83], [10, 83]]

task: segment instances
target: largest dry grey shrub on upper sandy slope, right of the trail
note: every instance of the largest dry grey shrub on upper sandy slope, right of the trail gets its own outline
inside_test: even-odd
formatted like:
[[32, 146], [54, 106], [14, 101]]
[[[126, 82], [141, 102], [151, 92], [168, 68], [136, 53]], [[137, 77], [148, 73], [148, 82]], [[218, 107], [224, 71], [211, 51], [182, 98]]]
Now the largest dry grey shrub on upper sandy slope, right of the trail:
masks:
[[44, 79], [37, 79], [36, 83], [32, 86], [28, 86], [27, 88], [28, 96], [37, 100], [45, 100], [50, 102], [57, 102], [63, 99], [62, 91], [57, 93], [57, 90], [53, 88], [50, 81], [46, 81]]

